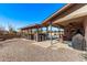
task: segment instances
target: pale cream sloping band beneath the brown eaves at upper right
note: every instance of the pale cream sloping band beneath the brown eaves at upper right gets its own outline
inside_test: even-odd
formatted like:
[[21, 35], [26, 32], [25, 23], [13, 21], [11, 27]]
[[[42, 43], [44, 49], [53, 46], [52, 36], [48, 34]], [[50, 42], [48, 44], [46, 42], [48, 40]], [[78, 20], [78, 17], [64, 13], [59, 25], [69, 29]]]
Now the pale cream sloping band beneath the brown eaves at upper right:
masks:
[[87, 17], [87, 4], [85, 4], [80, 9], [77, 9], [76, 11], [72, 12], [70, 14], [68, 14], [62, 19], [57, 19], [56, 21], [53, 22], [53, 24], [64, 24], [65, 25], [70, 22], [75, 22], [75, 20], [77, 20], [77, 19], [78, 20], [84, 19], [84, 17]]

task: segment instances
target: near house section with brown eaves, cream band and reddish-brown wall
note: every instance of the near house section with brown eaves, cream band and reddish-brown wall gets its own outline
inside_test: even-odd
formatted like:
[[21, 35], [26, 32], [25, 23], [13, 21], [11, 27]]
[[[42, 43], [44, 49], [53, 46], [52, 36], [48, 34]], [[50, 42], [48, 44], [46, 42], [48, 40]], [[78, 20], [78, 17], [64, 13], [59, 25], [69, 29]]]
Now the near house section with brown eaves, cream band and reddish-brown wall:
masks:
[[50, 23], [64, 29], [65, 41], [70, 41], [78, 29], [87, 41], [87, 4], [68, 3], [43, 21], [44, 25]]

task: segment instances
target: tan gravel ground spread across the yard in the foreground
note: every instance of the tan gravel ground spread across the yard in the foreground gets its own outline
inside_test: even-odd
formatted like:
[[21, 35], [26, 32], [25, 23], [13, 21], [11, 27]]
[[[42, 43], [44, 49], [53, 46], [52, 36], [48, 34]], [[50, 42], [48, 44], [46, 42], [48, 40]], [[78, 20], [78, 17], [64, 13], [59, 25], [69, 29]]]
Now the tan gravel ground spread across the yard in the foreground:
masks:
[[[43, 47], [36, 42], [13, 39], [0, 42], [0, 61], [2, 62], [81, 62], [81, 53], [76, 50]], [[45, 42], [42, 42], [45, 43]], [[47, 42], [50, 43], [50, 42]], [[59, 45], [59, 44], [58, 44]]]

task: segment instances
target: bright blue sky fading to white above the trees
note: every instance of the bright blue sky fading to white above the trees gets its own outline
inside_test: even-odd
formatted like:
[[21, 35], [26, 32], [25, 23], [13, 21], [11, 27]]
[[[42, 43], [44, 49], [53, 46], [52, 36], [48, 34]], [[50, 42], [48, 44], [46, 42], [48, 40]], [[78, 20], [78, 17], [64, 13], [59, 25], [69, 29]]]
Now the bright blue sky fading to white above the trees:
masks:
[[42, 23], [64, 7], [64, 3], [0, 3], [0, 26], [11, 25], [15, 30]]

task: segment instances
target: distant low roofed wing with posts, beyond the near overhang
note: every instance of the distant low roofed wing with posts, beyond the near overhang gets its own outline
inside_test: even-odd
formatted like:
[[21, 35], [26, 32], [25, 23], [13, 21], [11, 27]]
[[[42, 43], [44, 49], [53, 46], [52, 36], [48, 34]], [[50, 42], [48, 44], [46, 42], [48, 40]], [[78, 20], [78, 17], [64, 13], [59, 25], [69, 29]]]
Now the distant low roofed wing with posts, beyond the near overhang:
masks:
[[28, 34], [25, 36], [26, 39], [41, 42], [47, 39], [47, 34], [43, 32], [43, 28], [44, 26], [42, 24], [33, 24], [21, 29], [21, 31], [23, 32], [23, 34]]

